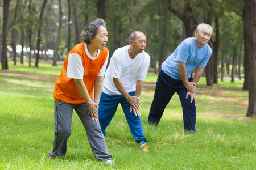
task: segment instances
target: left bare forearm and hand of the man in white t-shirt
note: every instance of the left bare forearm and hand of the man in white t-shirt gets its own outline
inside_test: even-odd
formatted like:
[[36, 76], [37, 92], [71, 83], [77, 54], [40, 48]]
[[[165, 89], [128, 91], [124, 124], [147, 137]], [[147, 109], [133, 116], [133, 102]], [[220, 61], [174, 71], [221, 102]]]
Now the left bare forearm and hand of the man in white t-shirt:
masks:
[[113, 78], [113, 82], [115, 87], [117, 87], [118, 91], [125, 97], [125, 99], [132, 105], [134, 108], [139, 108], [139, 97], [137, 96], [130, 96], [129, 93], [126, 91], [125, 86], [118, 78]]

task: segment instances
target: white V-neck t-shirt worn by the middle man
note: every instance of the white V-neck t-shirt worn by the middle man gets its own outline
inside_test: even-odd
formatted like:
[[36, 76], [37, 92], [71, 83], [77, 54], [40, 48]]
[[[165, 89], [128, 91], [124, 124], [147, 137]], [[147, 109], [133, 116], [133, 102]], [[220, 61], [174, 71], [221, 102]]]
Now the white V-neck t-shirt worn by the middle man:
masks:
[[136, 90], [137, 80], [144, 81], [150, 65], [150, 56], [146, 52], [139, 53], [134, 59], [128, 54], [130, 45], [118, 48], [110, 58], [110, 64], [106, 70], [102, 91], [109, 95], [121, 95], [113, 82], [119, 78], [127, 92]]

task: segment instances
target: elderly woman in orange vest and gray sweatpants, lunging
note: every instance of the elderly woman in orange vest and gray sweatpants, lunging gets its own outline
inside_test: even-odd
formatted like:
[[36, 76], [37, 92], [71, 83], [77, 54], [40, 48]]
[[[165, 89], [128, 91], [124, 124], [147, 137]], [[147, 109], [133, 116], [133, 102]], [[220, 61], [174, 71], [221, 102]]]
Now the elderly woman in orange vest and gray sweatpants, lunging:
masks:
[[63, 64], [54, 88], [55, 138], [50, 159], [64, 156], [71, 135], [72, 112], [78, 114], [96, 159], [113, 164], [98, 122], [98, 104], [108, 63], [108, 31], [103, 19], [90, 22]]

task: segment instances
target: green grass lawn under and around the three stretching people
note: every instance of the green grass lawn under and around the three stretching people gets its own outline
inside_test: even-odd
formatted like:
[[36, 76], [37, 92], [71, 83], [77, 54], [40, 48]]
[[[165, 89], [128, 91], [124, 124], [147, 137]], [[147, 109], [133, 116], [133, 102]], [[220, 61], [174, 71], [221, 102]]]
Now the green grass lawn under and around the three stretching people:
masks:
[[[118, 167], [94, 158], [75, 112], [67, 155], [48, 160], [54, 137], [53, 88], [61, 69], [9, 62], [9, 70], [0, 70], [0, 169], [256, 169], [256, 118], [245, 117], [248, 94], [241, 90], [243, 82], [219, 80], [206, 87], [204, 78], [198, 84], [195, 135], [184, 134], [176, 94], [159, 126], [148, 125], [154, 86], [143, 86], [140, 111], [149, 152], [139, 149], [118, 107], [106, 129], [106, 143]], [[156, 79], [148, 73], [145, 84]]]

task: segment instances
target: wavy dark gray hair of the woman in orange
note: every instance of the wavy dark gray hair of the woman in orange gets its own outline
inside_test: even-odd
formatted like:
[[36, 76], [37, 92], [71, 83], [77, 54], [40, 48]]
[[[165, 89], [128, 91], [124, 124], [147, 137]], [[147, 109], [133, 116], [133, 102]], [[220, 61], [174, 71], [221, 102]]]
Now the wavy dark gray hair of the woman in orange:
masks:
[[98, 28], [100, 26], [106, 27], [106, 22], [101, 18], [96, 18], [92, 20], [89, 24], [87, 24], [84, 30], [81, 32], [82, 40], [86, 44], [90, 44], [90, 40], [92, 40], [96, 34], [98, 33]]

